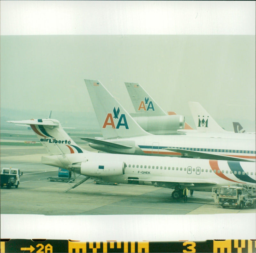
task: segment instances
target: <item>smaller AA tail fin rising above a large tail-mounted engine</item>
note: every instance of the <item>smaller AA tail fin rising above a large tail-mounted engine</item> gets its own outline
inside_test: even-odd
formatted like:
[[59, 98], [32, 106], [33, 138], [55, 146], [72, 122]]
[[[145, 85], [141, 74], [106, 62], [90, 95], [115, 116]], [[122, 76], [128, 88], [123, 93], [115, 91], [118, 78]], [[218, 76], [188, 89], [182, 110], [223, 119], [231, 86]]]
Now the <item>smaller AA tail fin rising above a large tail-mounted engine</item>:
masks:
[[146, 113], [147, 116], [167, 115], [164, 110], [152, 99], [139, 83], [125, 83], [132, 105], [136, 113]]

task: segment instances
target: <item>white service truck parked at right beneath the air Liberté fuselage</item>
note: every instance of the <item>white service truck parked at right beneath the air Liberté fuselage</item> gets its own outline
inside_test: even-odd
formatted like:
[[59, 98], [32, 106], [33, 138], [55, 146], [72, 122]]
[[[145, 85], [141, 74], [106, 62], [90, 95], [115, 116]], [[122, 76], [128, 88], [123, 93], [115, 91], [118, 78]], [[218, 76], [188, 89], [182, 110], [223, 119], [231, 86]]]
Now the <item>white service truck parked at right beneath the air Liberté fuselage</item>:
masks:
[[222, 208], [256, 208], [255, 185], [234, 185], [212, 188], [214, 202]]

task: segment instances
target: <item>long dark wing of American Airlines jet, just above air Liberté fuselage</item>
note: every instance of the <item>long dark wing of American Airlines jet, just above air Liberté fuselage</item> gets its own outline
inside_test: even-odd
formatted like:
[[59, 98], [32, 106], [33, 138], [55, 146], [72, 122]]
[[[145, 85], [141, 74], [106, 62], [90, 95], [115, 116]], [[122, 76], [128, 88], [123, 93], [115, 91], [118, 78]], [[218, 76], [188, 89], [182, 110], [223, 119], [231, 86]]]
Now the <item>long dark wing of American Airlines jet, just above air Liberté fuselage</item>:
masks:
[[249, 159], [244, 159], [244, 158], [239, 158], [239, 157], [234, 157], [234, 156], [207, 154], [207, 153], [204, 153], [201, 151], [191, 151], [191, 150], [185, 150], [185, 149], [181, 149], [181, 148], [167, 147], [167, 148], [163, 148], [163, 149], [178, 152], [178, 153], [181, 153], [182, 155], [191, 156], [193, 158], [226, 160], [226, 161], [237, 161], [237, 162], [254, 162]]

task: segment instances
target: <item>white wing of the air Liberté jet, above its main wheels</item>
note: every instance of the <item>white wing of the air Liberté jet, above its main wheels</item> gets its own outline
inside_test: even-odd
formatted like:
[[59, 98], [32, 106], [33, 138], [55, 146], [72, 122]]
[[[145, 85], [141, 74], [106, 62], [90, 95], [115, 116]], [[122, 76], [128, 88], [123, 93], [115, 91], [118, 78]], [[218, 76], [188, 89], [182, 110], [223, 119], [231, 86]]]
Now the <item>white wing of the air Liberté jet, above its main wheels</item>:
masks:
[[173, 178], [173, 177], [164, 177], [164, 178], [152, 178], [152, 179], [125, 179], [131, 181], [143, 181], [143, 182], [152, 182], [154, 183], [169, 183], [169, 184], [184, 184], [186, 186], [213, 186], [216, 185], [215, 182], [200, 180], [200, 179], [186, 179], [186, 178]]

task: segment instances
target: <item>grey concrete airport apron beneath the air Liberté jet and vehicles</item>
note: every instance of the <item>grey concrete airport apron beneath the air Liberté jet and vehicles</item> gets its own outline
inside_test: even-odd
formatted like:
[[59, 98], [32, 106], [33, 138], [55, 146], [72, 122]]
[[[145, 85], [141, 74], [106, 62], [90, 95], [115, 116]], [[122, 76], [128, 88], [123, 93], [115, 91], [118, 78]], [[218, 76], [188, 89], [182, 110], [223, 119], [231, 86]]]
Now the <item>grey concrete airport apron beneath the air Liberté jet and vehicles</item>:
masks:
[[[88, 145], [82, 146], [89, 148]], [[65, 192], [74, 183], [51, 182], [58, 168], [40, 163], [41, 146], [1, 146], [1, 169], [23, 172], [18, 188], [1, 189], [1, 214], [110, 215], [110, 214], [220, 214], [255, 213], [255, 209], [222, 209], [211, 192], [194, 191], [188, 202], [173, 200], [172, 189], [143, 185], [100, 185], [92, 179]], [[78, 175], [76, 175], [78, 176]], [[83, 176], [77, 178], [82, 180]]]

